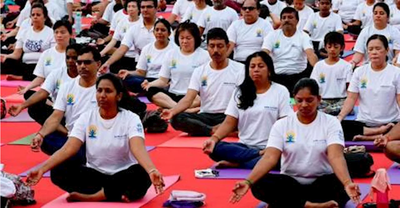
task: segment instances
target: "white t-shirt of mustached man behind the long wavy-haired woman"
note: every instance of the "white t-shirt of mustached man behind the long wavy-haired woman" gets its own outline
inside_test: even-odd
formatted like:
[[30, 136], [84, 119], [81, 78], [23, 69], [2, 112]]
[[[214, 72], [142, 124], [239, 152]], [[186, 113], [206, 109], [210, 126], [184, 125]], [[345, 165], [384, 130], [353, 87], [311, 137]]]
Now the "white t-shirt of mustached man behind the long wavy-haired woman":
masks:
[[262, 49], [267, 49], [274, 60], [276, 74], [298, 74], [307, 68], [305, 50], [314, 50], [310, 36], [297, 30], [292, 37], [286, 37], [282, 29], [274, 30], [264, 38]]

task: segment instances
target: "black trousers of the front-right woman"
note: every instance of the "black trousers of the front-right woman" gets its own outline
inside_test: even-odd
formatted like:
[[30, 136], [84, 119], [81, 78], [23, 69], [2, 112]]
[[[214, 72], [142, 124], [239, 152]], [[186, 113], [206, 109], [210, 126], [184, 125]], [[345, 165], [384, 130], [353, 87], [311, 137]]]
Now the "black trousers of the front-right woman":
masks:
[[272, 208], [304, 208], [307, 201], [323, 203], [330, 200], [344, 207], [350, 199], [335, 174], [320, 176], [310, 185], [302, 185], [287, 175], [266, 174], [251, 190], [254, 197]]

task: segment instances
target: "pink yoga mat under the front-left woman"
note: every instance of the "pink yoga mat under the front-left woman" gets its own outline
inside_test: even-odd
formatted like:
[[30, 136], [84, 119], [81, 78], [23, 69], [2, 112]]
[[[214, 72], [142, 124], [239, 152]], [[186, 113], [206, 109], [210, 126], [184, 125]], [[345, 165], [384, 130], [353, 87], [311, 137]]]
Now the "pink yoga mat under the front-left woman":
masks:
[[[179, 180], [179, 175], [174, 176], [164, 176], [164, 189], [169, 188], [174, 183]], [[150, 202], [153, 198], [158, 196], [154, 190], [154, 186], [150, 186], [147, 191], [147, 194], [144, 198], [130, 203], [122, 203], [122, 202], [72, 202], [68, 203], [66, 198], [68, 197], [68, 193], [61, 195], [55, 200], [49, 202], [48, 204], [42, 206], [42, 208], [110, 208], [110, 207], [118, 207], [118, 208], [139, 208], [148, 202]]]

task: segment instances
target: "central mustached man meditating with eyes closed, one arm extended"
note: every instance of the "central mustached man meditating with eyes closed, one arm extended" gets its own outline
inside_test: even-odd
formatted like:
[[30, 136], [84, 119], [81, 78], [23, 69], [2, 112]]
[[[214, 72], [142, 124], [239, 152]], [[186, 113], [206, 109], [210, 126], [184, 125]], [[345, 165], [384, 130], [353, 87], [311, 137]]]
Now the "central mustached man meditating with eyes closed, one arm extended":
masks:
[[[211, 61], [196, 68], [188, 92], [174, 108], [165, 109], [162, 118], [171, 120], [176, 130], [191, 136], [211, 136], [225, 119], [225, 110], [234, 90], [244, 80], [244, 65], [228, 59], [229, 40], [222, 28], [207, 33]], [[182, 113], [200, 94], [200, 113]]]

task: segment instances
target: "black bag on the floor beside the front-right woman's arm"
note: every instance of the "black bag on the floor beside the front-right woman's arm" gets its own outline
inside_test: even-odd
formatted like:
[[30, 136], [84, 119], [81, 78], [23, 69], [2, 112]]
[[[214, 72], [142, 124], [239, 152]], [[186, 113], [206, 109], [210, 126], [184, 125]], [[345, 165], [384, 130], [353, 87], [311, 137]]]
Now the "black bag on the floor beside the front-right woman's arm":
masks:
[[371, 171], [374, 164], [372, 156], [368, 152], [346, 153], [344, 158], [351, 178], [370, 178], [375, 172]]

